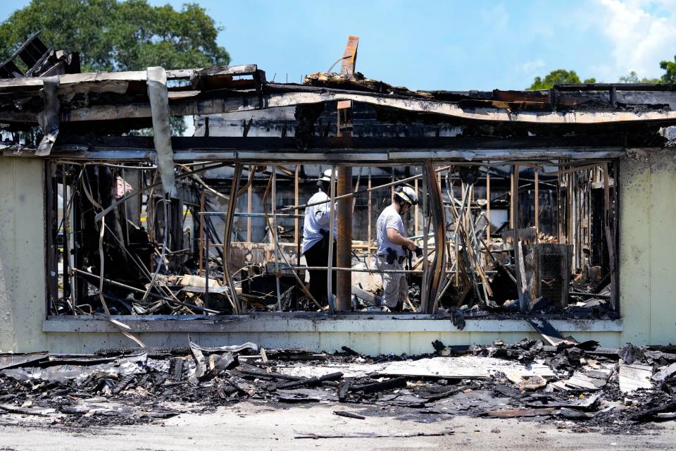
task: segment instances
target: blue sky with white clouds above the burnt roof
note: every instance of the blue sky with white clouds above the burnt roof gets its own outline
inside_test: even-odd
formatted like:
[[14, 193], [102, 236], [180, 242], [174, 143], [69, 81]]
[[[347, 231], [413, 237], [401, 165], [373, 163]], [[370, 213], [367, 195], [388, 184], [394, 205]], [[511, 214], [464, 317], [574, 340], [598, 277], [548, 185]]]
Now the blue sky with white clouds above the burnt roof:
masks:
[[[29, 1], [9, 3], [1, 20]], [[606, 82], [630, 70], [652, 78], [676, 54], [676, 0], [197, 3], [224, 27], [218, 42], [232, 63], [282, 82], [327, 70], [349, 35], [360, 38], [357, 70], [412, 89], [523, 89], [558, 68]]]

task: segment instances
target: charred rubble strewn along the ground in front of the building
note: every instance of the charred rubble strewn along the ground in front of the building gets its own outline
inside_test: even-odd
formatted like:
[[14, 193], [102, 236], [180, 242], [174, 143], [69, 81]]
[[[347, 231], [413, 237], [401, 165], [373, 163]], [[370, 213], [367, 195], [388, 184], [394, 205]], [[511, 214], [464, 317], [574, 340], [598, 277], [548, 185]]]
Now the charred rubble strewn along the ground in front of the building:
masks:
[[[244, 400], [273, 407], [351, 403], [364, 415], [522, 417], [613, 429], [676, 418], [676, 347], [596, 342], [446, 347], [370, 358], [265, 350], [253, 343], [94, 355], [0, 354], [0, 418], [134, 424]], [[354, 418], [359, 415], [354, 416]]]

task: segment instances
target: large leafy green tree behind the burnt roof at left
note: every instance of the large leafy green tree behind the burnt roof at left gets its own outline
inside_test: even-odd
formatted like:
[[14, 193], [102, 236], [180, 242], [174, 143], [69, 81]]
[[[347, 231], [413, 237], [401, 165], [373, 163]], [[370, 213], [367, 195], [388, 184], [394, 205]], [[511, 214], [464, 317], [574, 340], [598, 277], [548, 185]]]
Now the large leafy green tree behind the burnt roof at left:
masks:
[[[50, 47], [79, 51], [83, 72], [208, 67], [230, 63], [220, 27], [199, 4], [146, 0], [32, 0], [0, 25], [0, 61], [37, 30]], [[182, 132], [182, 119], [173, 121]]]

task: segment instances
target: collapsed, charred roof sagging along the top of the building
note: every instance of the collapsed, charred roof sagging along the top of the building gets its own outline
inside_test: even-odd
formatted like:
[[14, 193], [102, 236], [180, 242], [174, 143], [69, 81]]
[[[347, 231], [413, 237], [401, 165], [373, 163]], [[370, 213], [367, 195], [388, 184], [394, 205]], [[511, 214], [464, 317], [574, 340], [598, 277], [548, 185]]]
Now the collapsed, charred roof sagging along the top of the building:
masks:
[[[108, 134], [151, 124], [146, 71], [77, 73], [0, 80], [0, 123], [8, 131], [39, 125], [58, 101], [62, 131]], [[676, 123], [676, 85], [578, 84], [542, 91], [411, 91], [363, 75], [315, 73], [303, 85], [265, 80], [256, 65], [166, 71], [171, 116], [254, 111], [354, 101], [381, 121], [469, 125], [465, 135], [654, 135]], [[50, 86], [54, 97], [50, 97]], [[50, 100], [52, 99], [52, 100]], [[487, 125], [489, 128], [487, 128]]]

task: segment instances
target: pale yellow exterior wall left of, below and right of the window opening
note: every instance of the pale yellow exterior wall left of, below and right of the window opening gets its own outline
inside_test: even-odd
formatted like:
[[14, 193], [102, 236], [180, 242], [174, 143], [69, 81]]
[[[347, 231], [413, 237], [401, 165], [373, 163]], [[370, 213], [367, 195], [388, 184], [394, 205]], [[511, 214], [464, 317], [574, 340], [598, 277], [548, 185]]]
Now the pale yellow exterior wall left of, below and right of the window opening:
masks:
[[[598, 340], [606, 347], [676, 342], [676, 150], [632, 150], [620, 162], [620, 308], [614, 330], [589, 329], [584, 323], [564, 335]], [[44, 162], [0, 156], [0, 350], [3, 352], [92, 352], [101, 347], [132, 345], [114, 331], [43, 331], [45, 304]], [[190, 333], [204, 345], [260, 342], [332, 352], [346, 345], [368, 354], [431, 352], [431, 342], [446, 345], [513, 342], [537, 334], [502, 329], [494, 321], [455, 330], [446, 321], [430, 330], [415, 330], [415, 320], [397, 321], [396, 330], [252, 330], [249, 333]], [[322, 321], [327, 323], [327, 321]], [[500, 321], [497, 321], [498, 323]], [[175, 321], [173, 321], [175, 323]], [[407, 326], [413, 327], [406, 330]], [[255, 328], [254, 328], [255, 329]], [[140, 333], [148, 345], [185, 346], [187, 333]]]

